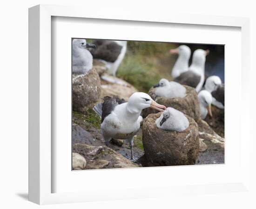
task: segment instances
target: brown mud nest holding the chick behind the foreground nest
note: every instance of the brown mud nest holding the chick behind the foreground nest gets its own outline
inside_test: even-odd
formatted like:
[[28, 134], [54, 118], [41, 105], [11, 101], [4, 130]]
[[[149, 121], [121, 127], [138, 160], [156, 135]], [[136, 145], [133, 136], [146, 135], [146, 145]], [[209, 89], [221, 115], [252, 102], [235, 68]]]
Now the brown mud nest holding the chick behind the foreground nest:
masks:
[[[197, 93], [194, 88], [184, 85], [186, 88], [186, 96], [184, 98], [165, 98], [157, 97], [155, 95], [155, 89], [151, 88], [148, 95], [154, 99], [158, 104], [165, 105], [166, 107], [173, 107], [178, 111], [188, 115], [193, 118], [196, 122], [201, 120], [201, 112], [199, 101], [197, 98]], [[142, 117], [146, 118], [149, 114], [157, 113], [158, 111], [152, 108], [146, 108], [142, 111]]]

